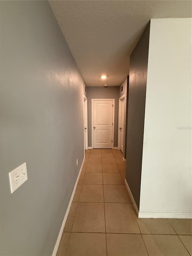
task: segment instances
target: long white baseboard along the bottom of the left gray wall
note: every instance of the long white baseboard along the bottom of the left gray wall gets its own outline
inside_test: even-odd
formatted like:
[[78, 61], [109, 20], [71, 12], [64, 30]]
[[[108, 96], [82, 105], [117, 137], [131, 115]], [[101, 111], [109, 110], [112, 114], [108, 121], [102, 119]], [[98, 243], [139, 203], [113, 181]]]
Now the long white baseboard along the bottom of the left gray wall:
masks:
[[78, 184], [78, 181], [79, 181], [79, 177], [80, 177], [80, 174], [81, 174], [81, 171], [82, 171], [82, 167], [83, 167], [84, 161], [85, 161], [85, 158], [83, 159], [81, 168], [80, 168], [80, 170], [79, 170], [79, 174], [78, 174], [77, 179], [76, 179], [76, 182], [75, 182], [75, 186], [74, 186], [74, 189], [73, 189], [73, 193], [72, 193], [72, 195], [71, 195], [71, 198], [70, 198], [70, 201], [69, 201], [69, 204], [68, 204], [68, 207], [67, 207], [67, 211], [66, 211], [66, 213], [65, 213], [65, 216], [64, 216], [64, 219], [63, 219], [63, 223], [62, 223], [62, 225], [61, 225], [61, 229], [60, 229], [60, 231], [59, 231], [59, 234], [58, 234], [58, 237], [57, 237], [57, 241], [56, 241], [56, 243], [55, 243], [55, 247], [54, 247], [52, 256], [56, 256], [56, 254], [57, 254], [58, 247], [59, 247], [59, 243], [60, 243], [60, 241], [61, 241], [61, 236], [62, 236], [62, 234], [63, 234], [64, 226], [65, 226], [65, 223], [66, 223], [66, 221], [67, 221], [67, 217], [68, 217], [68, 214], [69, 214], [69, 210], [70, 210], [70, 207], [71, 207], [71, 203], [72, 203], [72, 201], [73, 201], [73, 197], [74, 197], [75, 190], [76, 190], [76, 187], [77, 187], [77, 184]]

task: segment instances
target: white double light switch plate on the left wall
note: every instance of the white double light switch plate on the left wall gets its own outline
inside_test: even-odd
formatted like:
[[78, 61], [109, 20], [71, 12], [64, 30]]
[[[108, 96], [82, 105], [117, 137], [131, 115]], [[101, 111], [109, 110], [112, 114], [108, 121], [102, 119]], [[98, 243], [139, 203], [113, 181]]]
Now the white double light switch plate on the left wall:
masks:
[[27, 180], [26, 162], [9, 172], [11, 194]]

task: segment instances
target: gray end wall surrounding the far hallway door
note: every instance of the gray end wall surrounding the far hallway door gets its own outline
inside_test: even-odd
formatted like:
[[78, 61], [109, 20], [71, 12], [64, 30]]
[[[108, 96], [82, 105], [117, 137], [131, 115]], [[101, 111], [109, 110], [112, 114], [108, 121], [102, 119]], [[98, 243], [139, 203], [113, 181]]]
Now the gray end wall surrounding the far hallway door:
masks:
[[115, 99], [114, 147], [118, 146], [119, 86], [87, 87], [88, 146], [91, 147], [91, 99]]

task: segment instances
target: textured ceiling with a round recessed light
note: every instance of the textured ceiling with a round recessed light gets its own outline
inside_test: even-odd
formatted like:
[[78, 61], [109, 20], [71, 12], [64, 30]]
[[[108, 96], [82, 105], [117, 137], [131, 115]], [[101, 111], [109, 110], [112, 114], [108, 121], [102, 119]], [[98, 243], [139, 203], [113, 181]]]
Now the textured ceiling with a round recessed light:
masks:
[[[191, 1], [49, 1], [87, 86], [119, 86], [150, 19], [191, 17]], [[108, 78], [102, 80], [102, 74]]]

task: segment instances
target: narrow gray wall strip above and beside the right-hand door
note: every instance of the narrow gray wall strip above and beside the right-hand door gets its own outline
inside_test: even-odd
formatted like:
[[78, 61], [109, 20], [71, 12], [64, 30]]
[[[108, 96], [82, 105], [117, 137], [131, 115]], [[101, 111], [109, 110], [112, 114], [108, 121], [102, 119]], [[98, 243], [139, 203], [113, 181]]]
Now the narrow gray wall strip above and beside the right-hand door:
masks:
[[[123, 92], [121, 92], [121, 86], [122, 84], [124, 85]], [[124, 120], [124, 127], [125, 127], [125, 132], [124, 132], [124, 139], [123, 139], [123, 145], [124, 145], [124, 152], [123, 152], [123, 157], [126, 159], [126, 152], [127, 152], [127, 121], [128, 121], [128, 94], [129, 94], [129, 76], [125, 77], [125, 80], [121, 83], [119, 86], [119, 98], [122, 97], [125, 94], [125, 120]]]

